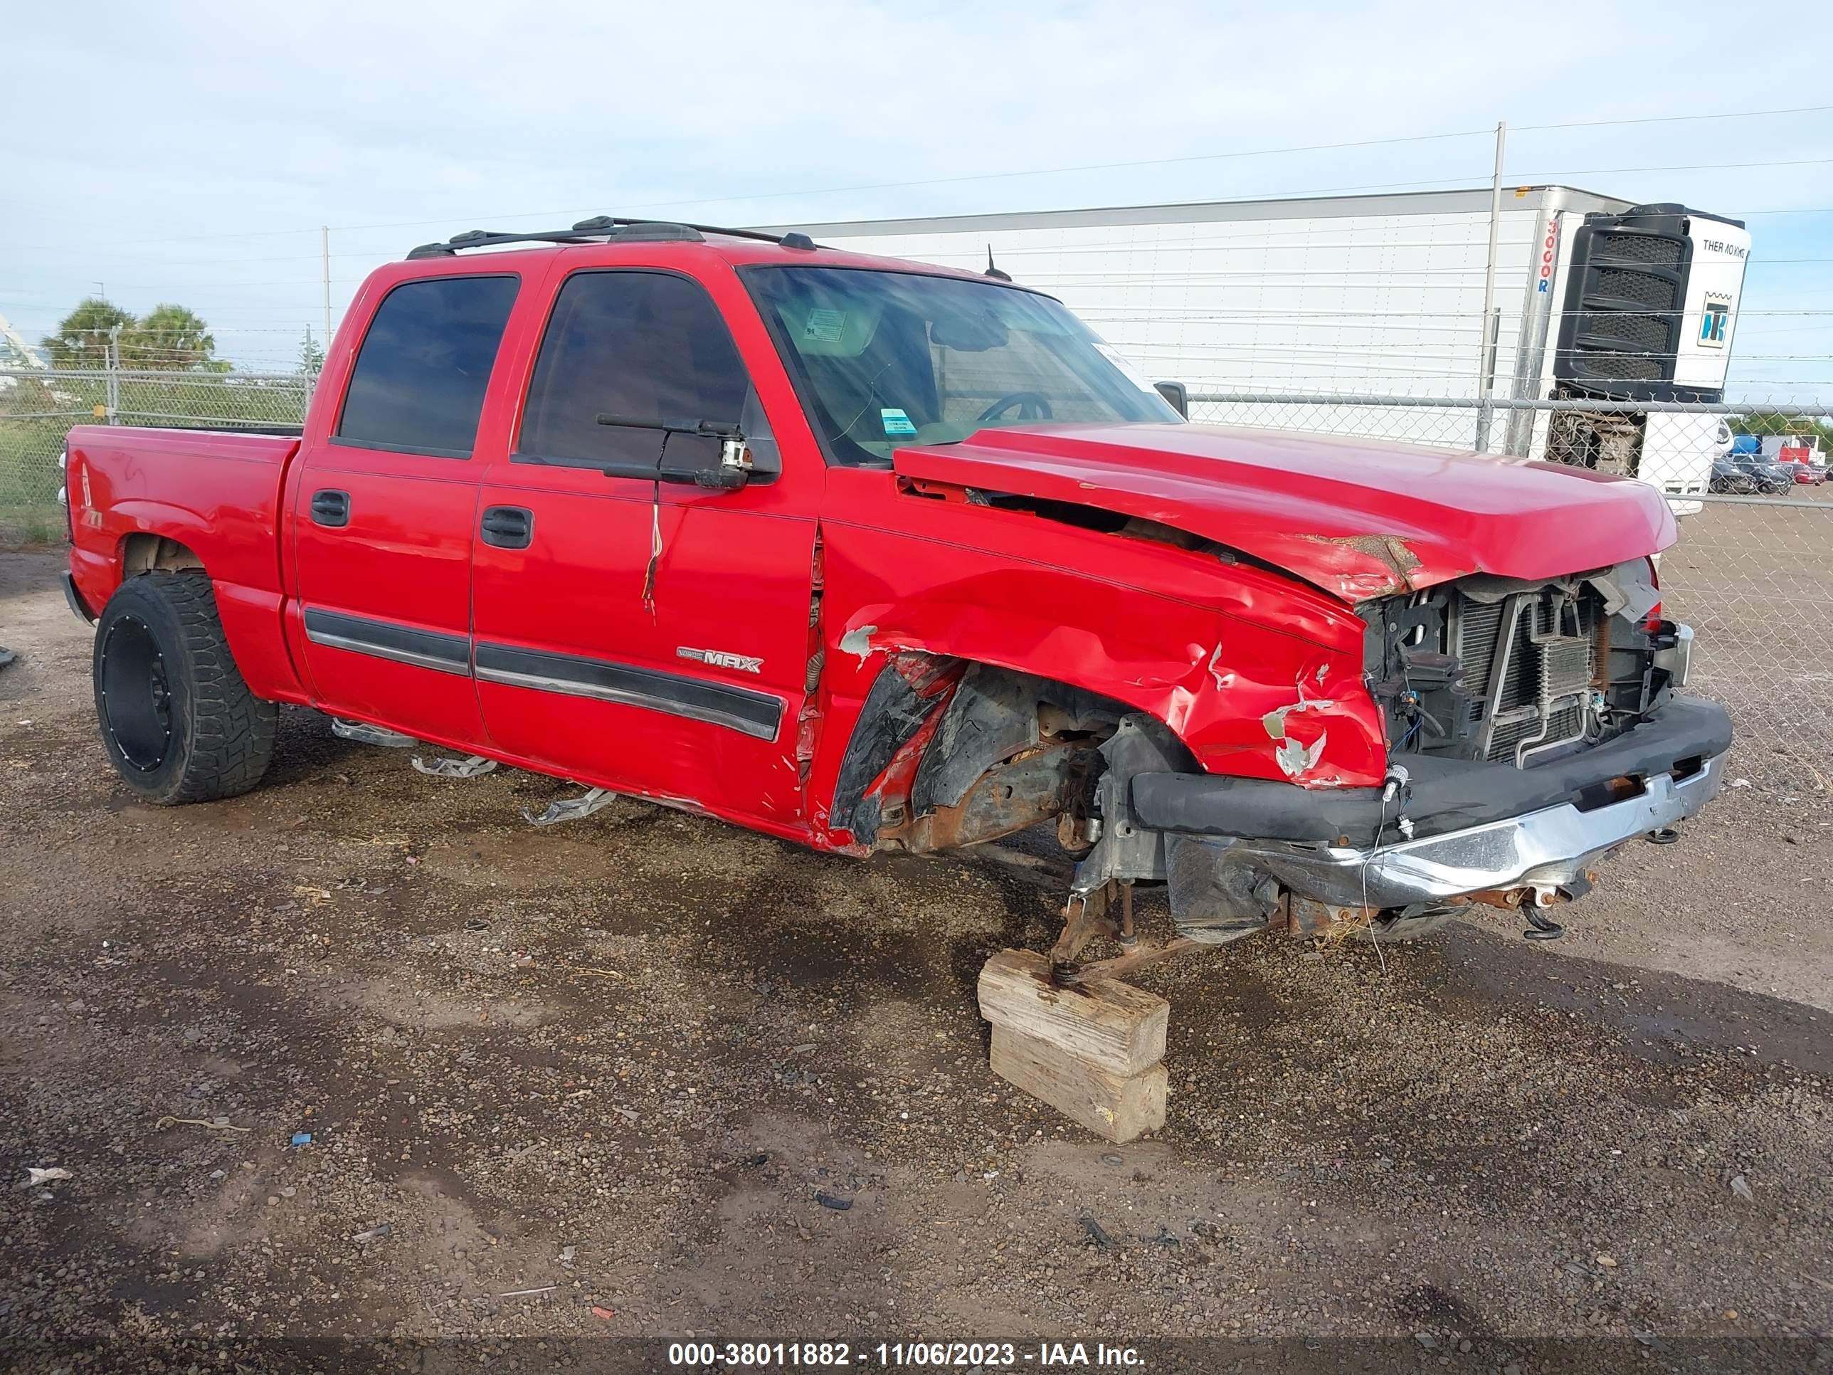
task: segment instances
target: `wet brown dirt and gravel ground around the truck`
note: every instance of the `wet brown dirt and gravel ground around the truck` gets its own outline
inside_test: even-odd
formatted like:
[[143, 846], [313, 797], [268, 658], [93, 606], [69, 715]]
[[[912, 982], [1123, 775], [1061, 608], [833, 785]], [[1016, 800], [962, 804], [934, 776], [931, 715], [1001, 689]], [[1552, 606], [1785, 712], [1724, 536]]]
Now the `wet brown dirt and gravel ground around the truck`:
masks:
[[986, 1067], [973, 979], [1054, 935], [1034, 876], [629, 801], [533, 830], [565, 785], [427, 779], [308, 711], [251, 796], [141, 807], [55, 570], [0, 554], [20, 1364], [392, 1338], [513, 1370], [689, 1335], [1826, 1358], [1833, 810], [1773, 748], [1564, 940], [1496, 913], [1140, 975], [1169, 1122], [1114, 1148]]

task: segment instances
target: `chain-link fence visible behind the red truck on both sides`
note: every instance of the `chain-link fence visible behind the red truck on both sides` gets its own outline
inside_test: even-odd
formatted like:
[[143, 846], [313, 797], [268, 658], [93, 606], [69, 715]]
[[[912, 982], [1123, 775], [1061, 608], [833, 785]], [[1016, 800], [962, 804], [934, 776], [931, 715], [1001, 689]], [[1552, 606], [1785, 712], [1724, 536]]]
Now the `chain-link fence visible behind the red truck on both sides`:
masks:
[[[79, 424], [277, 427], [304, 420], [312, 378], [132, 370], [0, 372], [0, 537], [62, 535], [57, 455]], [[1747, 741], [1833, 779], [1833, 484], [1820, 433], [1833, 411], [1305, 392], [1199, 392], [1191, 420], [1344, 434], [1446, 451], [1531, 455], [1635, 471], [1686, 512], [1661, 561], [1668, 612], [1697, 632], [1694, 686], [1730, 706]], [[1738, 455], [1734, 431], [1793, 431], [1813, 462]], [[1791, 456], [1800, 456], [1793, 455]]]

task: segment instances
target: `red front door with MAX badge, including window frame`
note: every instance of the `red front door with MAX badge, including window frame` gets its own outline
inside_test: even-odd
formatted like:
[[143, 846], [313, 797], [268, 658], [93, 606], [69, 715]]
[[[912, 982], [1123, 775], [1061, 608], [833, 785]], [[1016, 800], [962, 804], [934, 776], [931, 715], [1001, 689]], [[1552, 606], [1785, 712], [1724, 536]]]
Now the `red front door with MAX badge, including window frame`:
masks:
[[[568, 258], [521, 433], [488, 464], [478, 502], [486, 728], [500, 750], [557, 774], [794, 827], [821, 482], [819, 471], [774, 471], [768, 411], [794, 409], [788, 383], [722, 260], [702, 280], [667, 258], [634, 266], [627, 251], [616, 268]], [[739, 422], [759, 469], [748, 486], [605, 473], [704, 451], [704, 436], [640, 427], [698, 420]]]

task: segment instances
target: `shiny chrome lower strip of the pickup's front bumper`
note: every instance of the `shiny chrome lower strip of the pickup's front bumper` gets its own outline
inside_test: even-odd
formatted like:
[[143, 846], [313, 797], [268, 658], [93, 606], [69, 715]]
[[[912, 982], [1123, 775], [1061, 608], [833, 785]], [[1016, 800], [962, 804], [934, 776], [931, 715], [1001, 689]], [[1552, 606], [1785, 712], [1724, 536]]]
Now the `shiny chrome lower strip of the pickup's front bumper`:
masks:
[[1248, 860], [1301, 896], [1334, 906], [1408, 908], [1468, 893], [1531, 887], [1551, 893], [1606, 852], [1685, 821], [1719, 790], [1725, 755], [1683, 779], [1655, 774], [1639, 798], [1578, 810], [1571, 803], [1371, 849], [1237, 840], [1232, 862]]

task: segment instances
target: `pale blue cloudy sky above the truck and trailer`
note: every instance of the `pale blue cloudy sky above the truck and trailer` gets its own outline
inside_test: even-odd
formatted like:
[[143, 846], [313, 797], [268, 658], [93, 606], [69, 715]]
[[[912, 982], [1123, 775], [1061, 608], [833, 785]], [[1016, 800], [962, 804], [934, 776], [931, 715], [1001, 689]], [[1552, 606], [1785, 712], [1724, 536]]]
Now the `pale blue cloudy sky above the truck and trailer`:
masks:
[[[1833, 392], [1826, 6], [242, 6], [13, 13], [0, 315], [106, 284], [290, 367], [376, 262], [473, 226], [726, 224], [1569, 182], [1747, 216], [1738, 370]], [[1417, 136], [1455, 138], [1417, 138]], [[1373, 147], [1274, 148], [1402, 139]], [[1257, 156], [1243, 156], [1257, 154]]]

